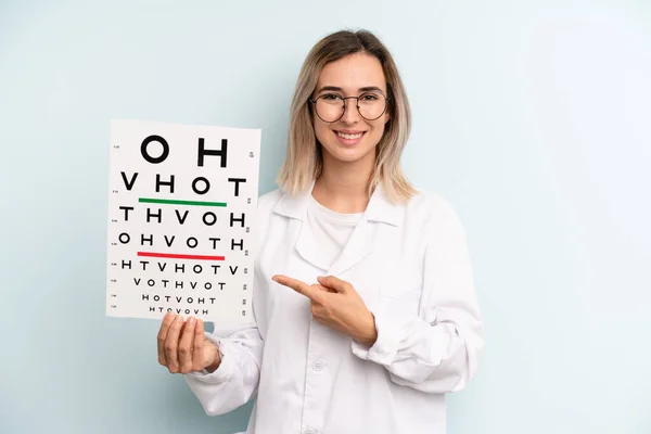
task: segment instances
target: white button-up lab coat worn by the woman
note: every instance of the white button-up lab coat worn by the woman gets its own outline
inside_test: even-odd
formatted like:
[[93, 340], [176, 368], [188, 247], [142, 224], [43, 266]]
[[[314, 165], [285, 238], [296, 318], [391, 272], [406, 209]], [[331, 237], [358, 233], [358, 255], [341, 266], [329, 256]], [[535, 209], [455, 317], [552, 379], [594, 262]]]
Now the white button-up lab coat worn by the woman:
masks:
[[[331, 264], [309, 230], [310, 197], [259, 199], [255, 324], [206, 333], [221, 366], [187, 374], [189, 386], [207, 414], [256, 398], [248, 434], [445, 433], [445, 394], [468, 385], [484, 346], [457, 214], [436, 194], [396, 205], [378, 188]], [[273, 275], [350, 282], [375, 317], [376, 342], [314, 321], [309, 299]]]

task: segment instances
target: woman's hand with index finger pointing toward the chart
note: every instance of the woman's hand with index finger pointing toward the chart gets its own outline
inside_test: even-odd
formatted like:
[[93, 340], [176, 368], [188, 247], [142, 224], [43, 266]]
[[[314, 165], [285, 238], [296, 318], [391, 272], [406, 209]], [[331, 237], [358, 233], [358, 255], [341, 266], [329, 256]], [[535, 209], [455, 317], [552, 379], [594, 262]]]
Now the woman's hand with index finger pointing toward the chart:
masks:
[[308, 297], [315, 320], [359, 343], [369, 346], [375, 343], [375, 318], [350, 283], [333, 276], [319, 277], [319, 284], [312, 285], [286, 276], [277, 275], [272, 279]]

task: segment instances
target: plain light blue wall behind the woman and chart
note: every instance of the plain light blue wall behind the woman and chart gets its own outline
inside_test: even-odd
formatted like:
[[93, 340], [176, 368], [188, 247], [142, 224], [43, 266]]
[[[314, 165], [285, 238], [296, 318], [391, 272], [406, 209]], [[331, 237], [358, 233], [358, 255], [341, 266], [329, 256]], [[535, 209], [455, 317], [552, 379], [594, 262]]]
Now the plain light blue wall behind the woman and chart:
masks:
[[651, 7], [640, 1], [0, 2], [0, 433], [231, 433], [104, 317], [108, 127], [263, 129], [273, 188], [310, 47], [383, 38], [404, 165], [469, 233], [487, 346], [451, 434], [651, 433]]

